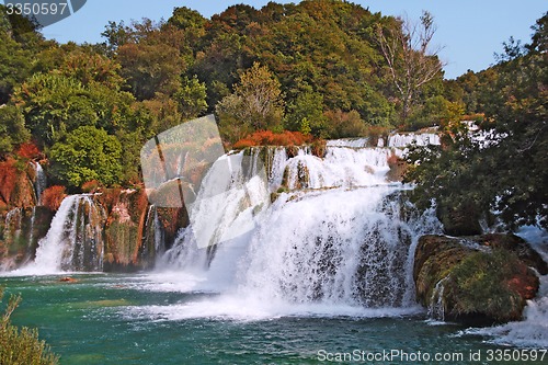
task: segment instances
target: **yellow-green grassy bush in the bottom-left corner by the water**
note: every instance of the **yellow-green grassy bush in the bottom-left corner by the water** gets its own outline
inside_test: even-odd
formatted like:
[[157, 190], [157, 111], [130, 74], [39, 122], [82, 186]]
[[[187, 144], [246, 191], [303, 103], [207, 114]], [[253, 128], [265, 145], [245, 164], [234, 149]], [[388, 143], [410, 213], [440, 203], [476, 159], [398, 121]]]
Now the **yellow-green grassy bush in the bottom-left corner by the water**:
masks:
[[[2, 298], [3, 288], [0, 288], [0, 303]], [[50, 352], [45, 341], [38, 340], [37, 330], [26, 327], [18, 329], [10, 323], [11, 313], [20, 303], [20, 296], [11, 296], [8, 307], [0, 319], [0, 364], [57, 364], [58, 356]]]

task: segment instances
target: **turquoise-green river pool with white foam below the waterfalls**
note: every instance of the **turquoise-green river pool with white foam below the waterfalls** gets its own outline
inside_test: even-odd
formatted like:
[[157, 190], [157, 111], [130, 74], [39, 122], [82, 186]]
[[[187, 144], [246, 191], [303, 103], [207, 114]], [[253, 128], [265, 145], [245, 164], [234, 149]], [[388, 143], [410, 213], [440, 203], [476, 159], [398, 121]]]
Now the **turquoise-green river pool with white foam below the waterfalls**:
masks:
[[[305, 310], [259, 316], [253, 304], [247, 316], [246, 304], [236, 311], [216, 310], [230, 301], [215, 293], [184, 293], [158, 277], [73, 275], [77, 283], [61, 283], [59, 277], [2, 277], [0, 285], [23, 297], [13, 322], [38, 328], [61, 364], [326, 364], [336, 363], [338, 353], [361, 356], [344, 363], [496, 364], [487, 361], [490, 351], [513, 350], [464, 334], [465, 328], [457, 324], [430, 323], [424, 312], [364, 310], [341, 316]], [[385, 315], [396, 317], [368, 318]], [[368, 353], [391, 350], [408, 356], [419, 351], [422, 356], [461, 354], [463, 361], [367, 361]], [[482, 360], [471, 361], [470, 352], [478, 351]]]

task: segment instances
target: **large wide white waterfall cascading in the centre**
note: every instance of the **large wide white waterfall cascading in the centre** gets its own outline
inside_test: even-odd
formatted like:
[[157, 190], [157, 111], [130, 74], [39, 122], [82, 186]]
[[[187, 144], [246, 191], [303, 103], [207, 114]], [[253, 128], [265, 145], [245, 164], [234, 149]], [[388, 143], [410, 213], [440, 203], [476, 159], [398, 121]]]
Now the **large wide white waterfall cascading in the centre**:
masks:
[[[288, 157], [285, 148], [264, 147], [266, 186], [238, 168], [244, 152], [220, 158], [215, 164], [228, 159], [230, 179], [212, 186], [209, 171], [197, 201], [212, 195], [208, 189], [227, 193], [192, 207], [195, 218], [179, 231], [163, 266], [202, 271], [202, 288], [262, 304], [414, 306], [414, 249], [420, 236], [441, 232], [441, 224], [408, 202], [409, 186], [387, 180], [388, 160], [402, 152], [402, 141], [367, 142], [329, 141], [324, 158], [307, 148]], [[255, 155], [252, 149], [252, 171], [260, 170]], [[232, 235], [243, 221], [252, 227]], [[206, 250], [199, 235], [227, 238]]]

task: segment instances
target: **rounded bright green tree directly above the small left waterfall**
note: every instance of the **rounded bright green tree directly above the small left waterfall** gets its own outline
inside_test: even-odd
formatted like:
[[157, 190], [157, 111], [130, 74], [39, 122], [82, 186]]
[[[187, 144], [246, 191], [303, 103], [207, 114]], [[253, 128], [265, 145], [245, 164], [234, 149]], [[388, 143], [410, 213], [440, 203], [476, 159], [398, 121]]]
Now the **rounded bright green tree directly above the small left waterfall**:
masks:
[[115, 136], [94, 126], [81, 126], [49, 152], [53, 173], [73, 187], [96, 180], [104, 185], [122, 180], [122, 145]]

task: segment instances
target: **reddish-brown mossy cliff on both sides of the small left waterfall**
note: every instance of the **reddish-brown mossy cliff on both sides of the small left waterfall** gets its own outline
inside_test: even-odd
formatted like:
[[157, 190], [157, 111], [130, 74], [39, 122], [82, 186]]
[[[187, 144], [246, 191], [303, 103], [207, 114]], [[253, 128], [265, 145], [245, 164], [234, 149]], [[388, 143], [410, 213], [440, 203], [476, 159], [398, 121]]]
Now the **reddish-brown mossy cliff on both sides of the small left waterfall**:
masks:
[[[0, 270], [32, 262], [54, 214], [37, 205], [31, 171], [15, 161], [0, 163]], [[104, 189], [81, 195], [61, 212], [60, 236], [71, 259], [62, 270], [136, 271], [153, 267], [158, 251], [171, 246], [187, 225], [184, 208], [156, 208], [145, 190]], [[65, 217], [65, 218], [64, 218]], [[58, 218], [56, 218], [58, 219]], [[70, 248], [68, 248], [70, 247]]]

